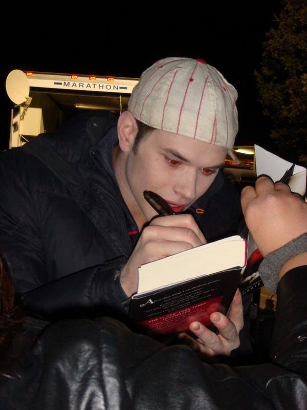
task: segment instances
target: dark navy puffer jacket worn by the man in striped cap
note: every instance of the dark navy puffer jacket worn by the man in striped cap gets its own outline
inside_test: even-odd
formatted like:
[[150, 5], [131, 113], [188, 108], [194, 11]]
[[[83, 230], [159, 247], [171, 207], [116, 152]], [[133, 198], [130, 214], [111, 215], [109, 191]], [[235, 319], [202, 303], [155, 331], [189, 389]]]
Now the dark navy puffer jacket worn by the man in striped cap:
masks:
[[[86, 114], [38, 137], [86, 181], [79, 196], [88, 212], [72, 197], [80, 187], [71, 181], [68, 190], [23, 148], [0, 155], [0, 247], [16, 293], [35, 311], [121, 309], [125, 294], [116, 271], [131, 254], [138, 228], [113, 170], [115, 123], [110, 114]], [[222, 174], [194, 205], [205, 209], [195, 218], [208, 240], [236, 233], [238, 194]]]

